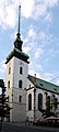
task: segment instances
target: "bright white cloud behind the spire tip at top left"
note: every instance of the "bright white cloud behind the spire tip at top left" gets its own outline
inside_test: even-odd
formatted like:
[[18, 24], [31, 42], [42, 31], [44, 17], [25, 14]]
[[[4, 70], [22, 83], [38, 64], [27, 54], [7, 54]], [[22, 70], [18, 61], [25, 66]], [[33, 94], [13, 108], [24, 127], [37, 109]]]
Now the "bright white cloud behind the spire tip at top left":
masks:
[[[16, 24], [17, 6], [22, 6], [22, 15], [32, 16], [34, 10], [34, 0], [2, 0], [0, 1], [0, 25], [3, 28], [14, 28]], [[2, 13], [1, 13], [2, 12]]]

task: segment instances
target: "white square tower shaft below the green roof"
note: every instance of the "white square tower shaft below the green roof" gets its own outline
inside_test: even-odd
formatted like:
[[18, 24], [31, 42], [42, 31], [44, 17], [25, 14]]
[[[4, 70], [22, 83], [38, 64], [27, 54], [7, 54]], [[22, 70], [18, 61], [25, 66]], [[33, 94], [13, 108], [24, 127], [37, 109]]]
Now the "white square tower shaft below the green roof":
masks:
[[[22, 74], [20, 74], [22, 67]], [[7, 96], [11, 106], [10, 121], [24, 121], [26, 117], [26, 87], [28, 64], [20, 58], [12, 57], [7, 64]], [[22, 80], [22, 88], [19, 81]]]

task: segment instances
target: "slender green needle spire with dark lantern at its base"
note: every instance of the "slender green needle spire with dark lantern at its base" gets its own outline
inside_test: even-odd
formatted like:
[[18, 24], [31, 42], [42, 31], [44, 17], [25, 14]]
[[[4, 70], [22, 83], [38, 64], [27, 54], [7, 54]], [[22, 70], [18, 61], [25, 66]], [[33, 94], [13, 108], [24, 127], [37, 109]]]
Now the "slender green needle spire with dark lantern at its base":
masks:
[[14, 42], [14, 47], [22, 51], [22, 41], [20, 37], [20, 25], [21, 25], [21, 6], [19, 6], [19, 21], [17, 21], [17, 34], [16, 34], [16, 40]]

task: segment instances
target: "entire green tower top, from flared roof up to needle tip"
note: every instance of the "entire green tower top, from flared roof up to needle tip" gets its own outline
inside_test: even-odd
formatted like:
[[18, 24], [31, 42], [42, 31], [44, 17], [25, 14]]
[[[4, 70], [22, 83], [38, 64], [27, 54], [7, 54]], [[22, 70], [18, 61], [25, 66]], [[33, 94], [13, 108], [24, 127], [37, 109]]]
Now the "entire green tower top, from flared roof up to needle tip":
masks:
[[17, 34], [16, 38], [14, 41], [14, 48], [10, 52], [10, 54], [7, 57], [5, 64], [10, 62], [12, 57], [17, 57], [19, 59], [24, 61], [25, 63], [30, 63], [28, 58], [30, 56], [22, 51], [22, 41], [21, 41], [21, 34], [20, 34], [20, 21], [21, 21], [21, 6], [19, 6], [19, 21], [17, 21]]

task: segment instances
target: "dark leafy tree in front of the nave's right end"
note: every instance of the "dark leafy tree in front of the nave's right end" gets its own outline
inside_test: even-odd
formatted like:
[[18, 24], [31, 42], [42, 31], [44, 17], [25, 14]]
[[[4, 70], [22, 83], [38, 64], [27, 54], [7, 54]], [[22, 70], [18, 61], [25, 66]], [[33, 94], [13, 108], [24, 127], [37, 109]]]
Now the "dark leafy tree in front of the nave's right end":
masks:
[[55, 95], [48, 96], [48, 94], [46, 92], [46, 110], [43, 113], [43, 116], [45, 117], [50, 117], [50, 116], [57, 116], [56, 114], [56, 110], [58, 108], [58, 99], [55, 97]]

